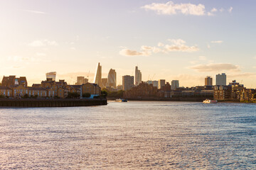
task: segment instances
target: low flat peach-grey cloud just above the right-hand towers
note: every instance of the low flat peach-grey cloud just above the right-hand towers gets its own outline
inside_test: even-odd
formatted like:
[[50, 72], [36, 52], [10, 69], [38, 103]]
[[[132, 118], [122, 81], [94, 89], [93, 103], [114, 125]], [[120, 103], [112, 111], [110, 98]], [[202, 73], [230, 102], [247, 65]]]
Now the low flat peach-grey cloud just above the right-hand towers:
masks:
[[210, 64], [198, 64], [190, 67], [190, 69], [196, 70], [196, 72], [221, 72], [232, 71], [239, 72], [240, 67], [238, 65], [229, 63], [210, 63]]

